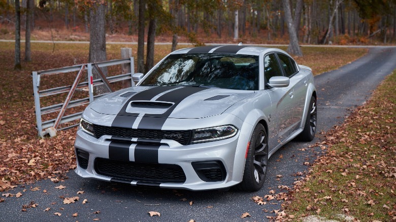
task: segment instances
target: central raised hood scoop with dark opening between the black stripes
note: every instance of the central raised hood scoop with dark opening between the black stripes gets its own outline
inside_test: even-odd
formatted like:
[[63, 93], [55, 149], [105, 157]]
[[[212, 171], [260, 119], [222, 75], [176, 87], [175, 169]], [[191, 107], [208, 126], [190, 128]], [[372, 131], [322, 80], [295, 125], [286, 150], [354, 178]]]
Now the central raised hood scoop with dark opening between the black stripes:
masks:
[[163, 114], [175, 103], [163, 101], [130, 101], [125, 109], [131, 114]]

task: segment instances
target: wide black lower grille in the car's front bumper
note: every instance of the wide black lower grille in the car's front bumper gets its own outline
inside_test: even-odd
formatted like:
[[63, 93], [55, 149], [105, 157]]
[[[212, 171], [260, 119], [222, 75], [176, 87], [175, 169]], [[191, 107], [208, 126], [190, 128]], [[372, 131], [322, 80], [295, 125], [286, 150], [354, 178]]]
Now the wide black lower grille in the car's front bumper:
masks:
[[137, 163], [103, 158], [95, 159], [98, 174], [118, 179], [150, 182], [185, 182], [183, 169], [173, 164]]

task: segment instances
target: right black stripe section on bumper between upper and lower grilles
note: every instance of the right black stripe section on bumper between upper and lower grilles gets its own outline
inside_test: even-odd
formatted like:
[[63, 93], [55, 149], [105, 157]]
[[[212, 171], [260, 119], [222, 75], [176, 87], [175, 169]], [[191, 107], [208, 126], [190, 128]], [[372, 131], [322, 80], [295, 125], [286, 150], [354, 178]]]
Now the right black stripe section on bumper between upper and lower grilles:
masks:
[[158, 149], [160, 144], [141, 144], [135, 146], [135, 162], [158, 163]]

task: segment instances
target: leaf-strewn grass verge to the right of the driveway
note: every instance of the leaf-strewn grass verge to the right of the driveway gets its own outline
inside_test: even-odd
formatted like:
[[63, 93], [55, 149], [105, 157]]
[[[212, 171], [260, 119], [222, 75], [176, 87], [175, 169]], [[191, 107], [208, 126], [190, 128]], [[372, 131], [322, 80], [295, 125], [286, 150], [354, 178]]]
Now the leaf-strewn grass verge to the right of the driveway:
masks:
[[327, 154], [292, 192], [287, 213], [396, 221], [395, 104], [396, 70], [366, 105], [327, 135]]

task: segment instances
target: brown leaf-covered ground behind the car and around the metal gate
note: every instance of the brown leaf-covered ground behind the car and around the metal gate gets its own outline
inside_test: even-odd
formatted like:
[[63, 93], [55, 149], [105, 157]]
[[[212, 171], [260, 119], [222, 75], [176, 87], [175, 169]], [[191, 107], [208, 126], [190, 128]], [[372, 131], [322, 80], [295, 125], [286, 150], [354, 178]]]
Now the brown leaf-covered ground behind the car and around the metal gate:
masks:
[[[135, 45], [108, 45], [108, 59], [120, 56], [120, 48]], [[183, 48], [186, 46], [179, 46]], [[156, 46], [155, 61], [170, 52], [171, 46]], [[22, 44], [22, 49], [24, 45]], [[311, 66], [315, 73], [339, 67], [364, 55], [367, 49], [349, 48], [303, 48], [304, 57], [299, 63]], [[22, 62], [23, 69], [13, 69], [14, 45], [0, 42], [0, 192], [16, 184], [32, 183], [50, 178], [54, 182], [62, 179], [65, 172], [75, 168], [73, 143], [76, 128], [59, 131], [51, 139], [37, 136], [34, 97], [30, 73], [86, 62], [88, 44], [32, 44], [33, 62]], [[323, 56], [318, 63], [316, 58]], [[324, 58], [324, 56], [326, 58]], [[23, 50], [22, 50], [23, 60]], [[135, 63], [136, 64], [136, 63]], [[337, 64], [334, 66], [334, 64]], [[68, 82], [68, 81], [71, 82]], [[43, 88], [52, 88], [59, 81], [72, 84], [72, 78], [42, 80]], [[45, 85], [45, 84], [46, 85]]]

